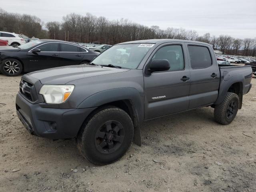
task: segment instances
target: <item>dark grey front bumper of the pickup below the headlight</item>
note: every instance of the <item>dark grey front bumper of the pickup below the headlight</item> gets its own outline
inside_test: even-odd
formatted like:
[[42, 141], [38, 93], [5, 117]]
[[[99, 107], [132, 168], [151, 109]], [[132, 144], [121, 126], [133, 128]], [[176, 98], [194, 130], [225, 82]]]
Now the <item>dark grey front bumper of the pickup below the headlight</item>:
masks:
[[45, 108], [32, 104], [20, 93], [16, 96], [18, 118], [30, 134], [50, 138], [75, 138], [85, 118], [95, 108]]

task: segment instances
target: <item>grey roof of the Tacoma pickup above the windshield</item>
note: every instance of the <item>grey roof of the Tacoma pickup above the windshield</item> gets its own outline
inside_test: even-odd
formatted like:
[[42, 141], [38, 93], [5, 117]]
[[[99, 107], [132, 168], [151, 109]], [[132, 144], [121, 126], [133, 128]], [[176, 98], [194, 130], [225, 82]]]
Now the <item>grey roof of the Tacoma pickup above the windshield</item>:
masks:
[[162, 44], [162, 43], [168, 43], [168, 42], [186, 42], [186, 43], [200, 43], [209, 45], [208, 43], [200, 42], [200, 41], [190, 41], [190, 40], [180, 40], [180, 39], [146, 39], [146, 40], [137, 40], [137, 41], [129, 41], [129, 42], [123, 42], [119, 44], [131, 44], [131, 43], [152, 43], [152, 44]]

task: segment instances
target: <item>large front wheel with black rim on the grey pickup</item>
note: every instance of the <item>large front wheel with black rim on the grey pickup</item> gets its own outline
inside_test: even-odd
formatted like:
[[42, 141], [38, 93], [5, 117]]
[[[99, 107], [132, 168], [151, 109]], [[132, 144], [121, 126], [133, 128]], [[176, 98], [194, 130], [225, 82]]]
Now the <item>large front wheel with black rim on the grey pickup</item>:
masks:
[[84, 122], [77, 136], [77, 147], [93, 164], [110, 164], [126, 153], [133, 134], [130, 116], [120, 108], [107, 106], [93, 112]]

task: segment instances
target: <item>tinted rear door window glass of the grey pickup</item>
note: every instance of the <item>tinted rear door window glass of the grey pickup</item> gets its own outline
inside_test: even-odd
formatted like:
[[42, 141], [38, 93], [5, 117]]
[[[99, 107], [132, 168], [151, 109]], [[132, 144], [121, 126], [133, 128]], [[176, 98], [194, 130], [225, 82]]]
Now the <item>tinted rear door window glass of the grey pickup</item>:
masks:
[[207, 68], [212, 65], [212, 59], [207, 47], [189, 45], [188, 52], [192, 69]]

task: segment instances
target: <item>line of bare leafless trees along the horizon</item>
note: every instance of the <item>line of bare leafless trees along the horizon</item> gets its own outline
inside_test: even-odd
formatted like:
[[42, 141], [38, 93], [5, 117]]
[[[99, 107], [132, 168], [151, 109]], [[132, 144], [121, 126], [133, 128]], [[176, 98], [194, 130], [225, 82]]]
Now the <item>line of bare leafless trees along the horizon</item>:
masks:
[[0, 9], [0, 30], [22, 33], [29, 37], [100, 44], [156, 38], [196, 40], [209, 43], [214, 50], [220, 50], [225, 54], [256, 56], [256, 38], [241, 39], [229, 35], [217, 37], [210, 33], [200, 36], [195, 30], [172, 27], [162, 30], [159, 26], [148, 27], [123, 18], [108, 20], [90, 13], [84, 16], [71, 13], [64, 16], [62, 22], [52, 21], [44, 24], [36, 16], [13, 14]]

